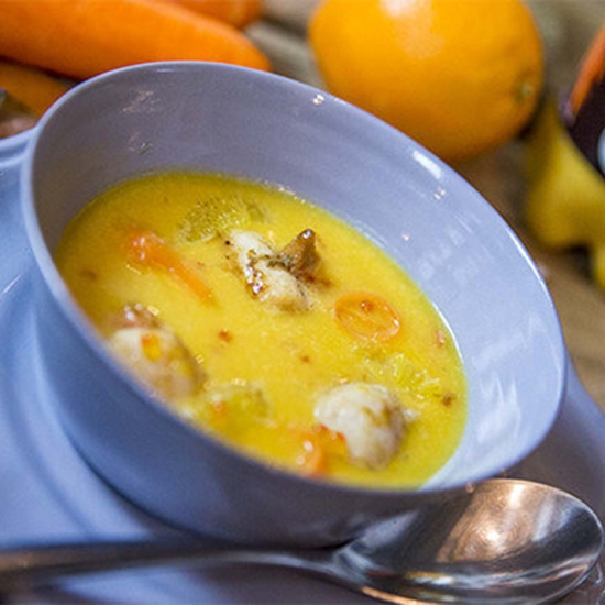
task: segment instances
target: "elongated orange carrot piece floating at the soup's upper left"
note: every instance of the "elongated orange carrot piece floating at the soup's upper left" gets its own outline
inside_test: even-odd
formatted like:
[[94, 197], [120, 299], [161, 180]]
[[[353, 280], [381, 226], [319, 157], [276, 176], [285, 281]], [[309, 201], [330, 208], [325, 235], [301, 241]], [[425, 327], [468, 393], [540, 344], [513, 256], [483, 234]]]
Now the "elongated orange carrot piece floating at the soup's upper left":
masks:
[[210, 287], [204, 282], [199, 273], [153, 231], [136, 231], [130, 237], [128, 243], [130, 256], [136, 263], [166, 271], [202, 300], [212, 297]]

